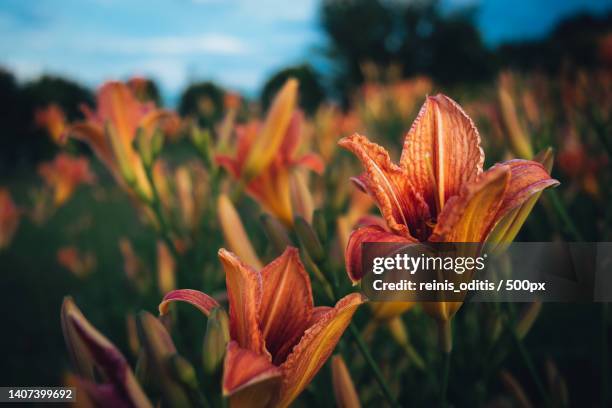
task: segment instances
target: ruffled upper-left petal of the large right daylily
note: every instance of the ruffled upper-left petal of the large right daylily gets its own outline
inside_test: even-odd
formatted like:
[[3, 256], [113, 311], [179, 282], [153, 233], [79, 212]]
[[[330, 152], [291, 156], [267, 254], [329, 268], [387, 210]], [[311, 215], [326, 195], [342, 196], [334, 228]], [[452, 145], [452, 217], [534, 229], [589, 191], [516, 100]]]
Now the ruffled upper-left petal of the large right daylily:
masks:
[[364, 167], [365, 173], [353, 181], [376, 202], [389, 228], [405, 237], [420, 235], [429, 208], [414, 191], [408, 174], [395, 165], [389, 153], [365, 136], [354, 134], [338, 144], [350, 150]]

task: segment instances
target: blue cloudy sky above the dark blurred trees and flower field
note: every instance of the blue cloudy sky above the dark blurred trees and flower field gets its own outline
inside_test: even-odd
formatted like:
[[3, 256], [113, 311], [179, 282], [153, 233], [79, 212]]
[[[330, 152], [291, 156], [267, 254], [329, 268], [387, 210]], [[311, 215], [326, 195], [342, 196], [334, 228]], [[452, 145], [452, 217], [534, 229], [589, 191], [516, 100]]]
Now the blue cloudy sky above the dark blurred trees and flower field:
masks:
[[[449, 11], [476, 6], [490, 45], [546, 34], [577, 10], [612, 8], [611, 0], [442, 2]], [[318, 7], [317, 0], [2, 0], [0, 66], [20, 80], [51, 73], [92, 87], [146, 75], [169, 99], [209, 79], [257, 93], [273, 72], [325, 45]]]

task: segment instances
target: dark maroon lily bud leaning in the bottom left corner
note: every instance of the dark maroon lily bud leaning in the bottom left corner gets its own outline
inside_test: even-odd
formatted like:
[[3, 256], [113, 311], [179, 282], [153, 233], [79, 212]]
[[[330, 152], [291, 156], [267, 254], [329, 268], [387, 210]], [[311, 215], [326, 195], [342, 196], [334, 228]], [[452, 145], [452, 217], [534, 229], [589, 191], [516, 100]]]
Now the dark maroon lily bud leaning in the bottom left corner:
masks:
[[61, 320], [66, 345], [85, 382], [93, 384], [95, 366], [100, 369], [105, 381], [102, 385], [96, 385], [96, 389], [106, 389], [106, 394], [120, 396], [125, 406], [152, 407], [125, 357], [89, 323], [71, 298], [64, 299]]

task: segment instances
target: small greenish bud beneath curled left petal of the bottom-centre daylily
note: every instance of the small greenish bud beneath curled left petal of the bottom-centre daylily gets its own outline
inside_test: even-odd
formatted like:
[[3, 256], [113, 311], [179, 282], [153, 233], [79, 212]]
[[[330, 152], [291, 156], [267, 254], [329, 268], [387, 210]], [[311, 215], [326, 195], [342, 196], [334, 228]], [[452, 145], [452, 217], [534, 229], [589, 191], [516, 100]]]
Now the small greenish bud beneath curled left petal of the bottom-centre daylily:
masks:
[[204, 370], [214, 373], [220, 367], [229, 342], [229, 319], [227, 313], [220, 307], [211, 310], [204, 335]]

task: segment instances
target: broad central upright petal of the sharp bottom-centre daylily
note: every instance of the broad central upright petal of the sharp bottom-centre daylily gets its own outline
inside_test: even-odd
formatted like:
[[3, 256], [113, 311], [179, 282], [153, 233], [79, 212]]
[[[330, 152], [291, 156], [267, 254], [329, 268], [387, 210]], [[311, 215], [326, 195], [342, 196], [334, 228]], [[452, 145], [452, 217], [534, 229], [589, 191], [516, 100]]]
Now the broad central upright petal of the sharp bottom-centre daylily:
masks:
[[299, 251], [289, 247], [261, 271], [259, 322], [272, 362], [280, 364], [308, 328], [313, 301]]

